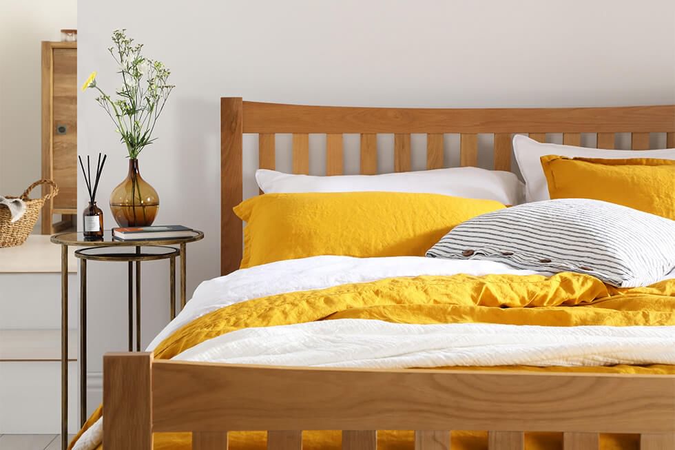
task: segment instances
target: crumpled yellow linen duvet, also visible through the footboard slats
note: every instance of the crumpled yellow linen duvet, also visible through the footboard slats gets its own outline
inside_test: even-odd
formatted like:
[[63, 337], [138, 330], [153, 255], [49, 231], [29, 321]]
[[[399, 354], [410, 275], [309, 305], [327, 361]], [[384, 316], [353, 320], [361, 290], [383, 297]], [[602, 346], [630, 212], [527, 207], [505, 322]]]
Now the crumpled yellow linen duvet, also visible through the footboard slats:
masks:
[[[409, 259], [411, 258], [402, 258], [397, 262], [400, 263], [399, 265], [392, 267], [405, 265]], [[430, 264], [426, 261], [423, 263]], [[438, 263], [451, 264], [435, 260], [435, 264]], [[293, 264], [295, 263], [289, 262], [289, 265]], [[353, 264], [357, 266], [361, 263]], [[453, 269], [448, 269], [446, 272], [461, 272], [462, 267], [457, 266], [457, 262], [453, 262], [452, 265]], [[313, 262], [312, 270], [317, 270], [316, 267], [319, 266]], [[290, 267], [290, 270], [293, 272], [295, 269]], [[443, 272], [436, 271], [436, 269], [434, 271]], [[467, 270], [467, 272], [481, 271]], [[154, 348], [154, 356], [169, 359], [200, 342], [247, 327], [269, 327], [340, 318], [377, 319], [390, 323], [410, 324], [494, 323], [557, 327], [675, 325], [675, 279], [663, 280], [650, 287], [619, 289], [583, 274], [563, 273], [547, 277], [516, 274], [524, 271], [502, 270], [501, 272], [504, 273], [482, 276], [462, 273], [417, 276], [411, 274], [413, 276], [363, 280], [359, 283], [337, 284], [322, 289], [292, 290], [261, 298], [245, 299], [238, 303], [217, 307], [207, 314], [196, 314], [199, 317], [187, 321], [185, 325], [158, 343]], [[391, 273], [397, 273], [397, 271], [392, 269]], [[251, 272], [250, 275], [257, 274]], [[302, 273], [298, 274], [299, 278], [302, 276]], [[286, 277], [288, 278], [288, 275]], [[344, 276], [343, 278], [349, 280], [353, 277]], [[218, 283], [232, 285], [231, 280], [232, 278], [229, 278]], [[193, 308], [195, 311], [200, 310], [198, 305], [200, 289], [196, 292], [195, 298], [191, 300], [195, 302], [196, 306]], [[180, 320], [178, 322], [180, 323]], [[447, 367], [446, 369], [456, 368], [466, 369], [467, 367]], [[508, 366], [472, 367], [472, 369], [675, 374], [675, 367], [671, 365]], [[85, 429], [91, 427], [100, 417], [101, 408], [87, 421]], [[264, 432], [230, 433], [229, 436], [229, 448], [233, 450], [264, 449], [266, 445]], [[412, 431], [381, 431], [378, 436], [380, 449], [413, 449]], [[187, 450], [191, 448], [190, 440], [189, 433], [156, 433], [155, 449]], [[304, 449], [308, 450], [340, 449], [338, 431], [305, 431], [303, 440]], [[487, 449], [487, 434], [482, 431], [453, 432], [452, 445], [453, 450]], [[528, 433], [526, 435], [527, 450], [561, 448], [561, 434]], [[638, 449], [638, 437], [601, 436], [601, 449]]]

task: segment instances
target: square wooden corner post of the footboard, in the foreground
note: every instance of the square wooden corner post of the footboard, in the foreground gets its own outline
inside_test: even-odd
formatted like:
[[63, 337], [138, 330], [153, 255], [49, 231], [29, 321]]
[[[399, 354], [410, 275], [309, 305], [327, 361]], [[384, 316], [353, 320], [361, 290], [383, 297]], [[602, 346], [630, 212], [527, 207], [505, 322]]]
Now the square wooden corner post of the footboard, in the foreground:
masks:
[[103, 356], [103, 448], [152, 450], [152, 353]]

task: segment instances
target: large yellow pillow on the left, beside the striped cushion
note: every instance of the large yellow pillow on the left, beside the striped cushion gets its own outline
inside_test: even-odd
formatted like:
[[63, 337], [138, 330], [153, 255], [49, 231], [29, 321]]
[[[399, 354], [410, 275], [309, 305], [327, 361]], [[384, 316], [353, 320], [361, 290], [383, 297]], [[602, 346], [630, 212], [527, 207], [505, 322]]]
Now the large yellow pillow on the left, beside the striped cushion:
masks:
[[245, 268], [317, 255], [424, 256], [455, 225], [503, 207], [439, 194], [314, 192], [264, 194], [234, 212], [247, 223]]

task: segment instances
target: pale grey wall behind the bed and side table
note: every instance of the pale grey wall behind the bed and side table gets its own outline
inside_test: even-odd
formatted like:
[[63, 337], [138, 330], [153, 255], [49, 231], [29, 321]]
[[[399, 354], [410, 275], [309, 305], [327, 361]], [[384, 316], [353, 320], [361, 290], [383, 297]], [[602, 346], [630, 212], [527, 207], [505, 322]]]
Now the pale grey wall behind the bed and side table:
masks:
[[[675, 103], [672, 0], [87, 0], [79, 2], [79, 21], [81, 81], [98, 70], [101, 86], [117, 85], [105, 50], [114, 28], [127, 28], [149, 57], [172, 69], [177, 88], [141, 172], [160, 194], [158, 223], [206, 234], [188, 245], [189, 292], [219, 273], [220, 96], [381, 106]], [[103, 200], [125, 175], [126, 160], [93, 97], [80, 94], [79, 152], [108, 153]], [[246, 142], [255, 147], [255, 139]], [[321, 173], [317, 161], [312, 167]], [[125, 347], [125, 267], [90, 267], [96, 371], [103, 351]], [[148, 267], [145, 343], [168, 318], [167, 263]]]

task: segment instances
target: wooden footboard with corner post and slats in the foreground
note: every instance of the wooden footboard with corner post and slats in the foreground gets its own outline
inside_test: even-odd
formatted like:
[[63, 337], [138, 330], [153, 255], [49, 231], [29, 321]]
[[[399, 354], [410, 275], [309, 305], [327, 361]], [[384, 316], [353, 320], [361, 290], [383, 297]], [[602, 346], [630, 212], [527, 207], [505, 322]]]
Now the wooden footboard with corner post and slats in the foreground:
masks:
[[675, 376], [262, 367], [103, 358], [103, 448], [152, 449], [152, 433], [191, 431], [194, 450], [227, 449], [227, 431], [265, 430], [268, 449], [300, 449], [302, 430], [344, 430], [343, 449], [375, 450], [378, 429], [416, 430], [415, 449], [449, 449], [448, 430], [489, 430], [490, 450], [523, 449], [524, 431], [564, 433], [565, 450], [599, 433], [640, 433], [675, 449]]

